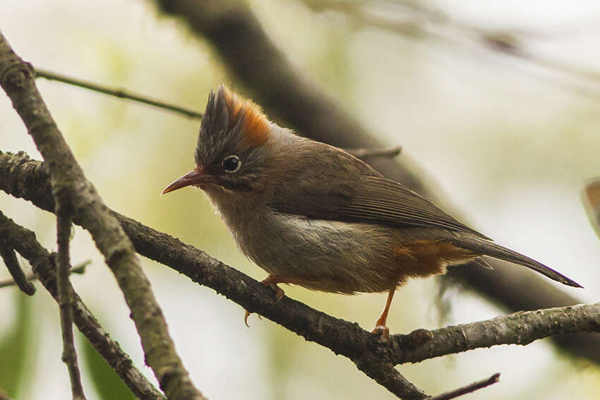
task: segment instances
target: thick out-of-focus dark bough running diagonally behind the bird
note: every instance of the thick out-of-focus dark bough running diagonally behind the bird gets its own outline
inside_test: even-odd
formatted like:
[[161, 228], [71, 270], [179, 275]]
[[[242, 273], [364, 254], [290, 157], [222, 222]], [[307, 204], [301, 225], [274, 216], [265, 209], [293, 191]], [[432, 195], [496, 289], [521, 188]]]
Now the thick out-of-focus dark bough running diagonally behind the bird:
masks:
[[[244, 1], [155, 0], [165, 13], [184, 20], [202, 39], [208, 40], [236, 78], [250, 87], [257, 102], [299, 133], [342, 148], [385, 147], [368, 133], [329, 95], [302, 75], [275, 47]], [[400, 140], [400, 139], [399, 139]], [[399, 181], [446, 210], [451, 205], [436, 201], [409, 166], [401, 159], [376, 157], [369, 163], [388, 178]], [[485, 232], [484, 232], [485, 233]], [[493, 271], [477, 265], [454, 268], [450, 274], [466, 281], [476, 291], [508, 310], [536, 310], [580, 303], [524, 268], [508, 270], [503, 262], [490, 260]], [[600, 334], [558, 337], [568, 351], [600, 363]]]

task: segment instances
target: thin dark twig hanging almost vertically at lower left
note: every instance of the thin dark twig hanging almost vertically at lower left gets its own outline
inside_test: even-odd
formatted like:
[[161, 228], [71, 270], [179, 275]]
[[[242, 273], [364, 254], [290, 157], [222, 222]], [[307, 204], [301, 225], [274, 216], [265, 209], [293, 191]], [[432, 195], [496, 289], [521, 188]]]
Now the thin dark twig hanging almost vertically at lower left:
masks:
[[56, 242], [58, 243], [58, 256], [56, 257], [56, 291], [59, 293], [59, 308], [61, 310], [61, 329], [63, 337], [62, 360], [68, 369], [71, 380], [71, 393], [73, 400], [85, 400], [81, 373], [77, 362], [75, 339], [73, 339], [73, 293], [69, 277], [69, 242], [71, 241], [72, 210], [70, 196], [61, 186], [55, 186], [54, 199], [56, 202]]

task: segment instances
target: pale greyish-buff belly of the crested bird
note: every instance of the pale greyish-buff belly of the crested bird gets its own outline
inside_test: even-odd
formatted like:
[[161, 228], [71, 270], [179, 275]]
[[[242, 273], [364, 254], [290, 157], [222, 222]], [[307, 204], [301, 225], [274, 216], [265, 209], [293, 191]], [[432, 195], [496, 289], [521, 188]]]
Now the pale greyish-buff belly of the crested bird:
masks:
[[248, 257], [308, 289], [386, 291], [400, 280], [394, 229], [278, 213], [240, 225], [232, 231]]

